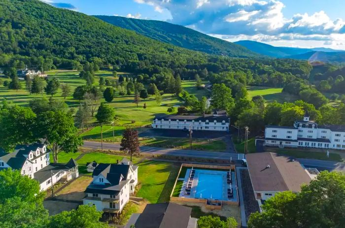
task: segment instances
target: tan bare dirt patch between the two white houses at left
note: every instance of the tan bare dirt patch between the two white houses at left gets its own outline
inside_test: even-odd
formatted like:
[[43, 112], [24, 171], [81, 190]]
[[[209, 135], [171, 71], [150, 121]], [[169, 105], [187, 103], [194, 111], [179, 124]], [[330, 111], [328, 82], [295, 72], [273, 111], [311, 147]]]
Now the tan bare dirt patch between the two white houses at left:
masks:
[[80, 176], [70, 184], [67, 184], [56, 194], [56, 198], [64, 200], [82, 201], [85, 196], [86, 187], [92, 182], [92, 177]]

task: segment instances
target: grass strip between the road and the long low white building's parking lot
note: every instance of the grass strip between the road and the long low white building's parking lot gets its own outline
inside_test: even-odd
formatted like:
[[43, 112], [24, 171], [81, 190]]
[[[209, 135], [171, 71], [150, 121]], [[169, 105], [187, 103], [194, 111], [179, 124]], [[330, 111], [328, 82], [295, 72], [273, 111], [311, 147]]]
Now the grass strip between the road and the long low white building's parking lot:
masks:
[[[190, 143], [188, 138], [149, 138], [140, 140], [141, 145], [151, 147], [164, 147], [164, 148], [178, 148], [189, 149]], [[225, 151], [226, 144], [222, 140], [203, 140], [193, 139], [193, 150], [205, 151]]]

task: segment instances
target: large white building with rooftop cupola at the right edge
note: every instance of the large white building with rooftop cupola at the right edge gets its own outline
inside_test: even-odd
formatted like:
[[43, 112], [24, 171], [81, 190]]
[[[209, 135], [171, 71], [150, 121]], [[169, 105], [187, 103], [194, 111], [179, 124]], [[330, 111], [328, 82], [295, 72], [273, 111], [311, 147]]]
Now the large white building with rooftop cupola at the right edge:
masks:
[[345, 150], [345, 126], [319, 126], [307, 112], [303, 120], [296, 120], [291, 127], [266, 126], [264, 145]]

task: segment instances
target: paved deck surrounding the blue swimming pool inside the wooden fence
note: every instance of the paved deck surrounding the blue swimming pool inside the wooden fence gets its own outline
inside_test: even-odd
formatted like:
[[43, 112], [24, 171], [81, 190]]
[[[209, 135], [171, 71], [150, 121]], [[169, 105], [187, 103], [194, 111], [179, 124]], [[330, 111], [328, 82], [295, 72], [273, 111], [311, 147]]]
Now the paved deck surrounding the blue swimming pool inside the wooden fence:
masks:
[[[196, 195], [197, 187], [198, 187], [198, 181], [199, 181], [199, 174], [201, 174], [201, 173], [202, 174], [217, 174], [217, 175], [222, 176], [222, 183], [223, 183], [223, 185], [222, 185], [222, 198], [218, 199], [218, 200], [234, 201], [234, 202], [238, 201], [238, 199], [237, 199], [237, 186], [236, 186], [236, 181], [235, 181], [236, 177], [235, 177], [234, 171], [231, 172], [231, 180], [232, 180], [231, 187], [233, 189], [233, 197], [232, 198], [228, 198], [228, 188], [230, 185], [227, 184], [227, 179], [226, 179], [226, 175], [228, 172], [227, 170], [219, 170], [218, 171], [218, 170], [207, 170], [207, 169], [195, 169], [195, 175], [194, 175], [194, 180], [192, 182], [192, 188], [190, 191], [190, 195], [187, 195], [185, 189], [187, 187], [190, 172], [191, 172], [191, 169], [187, 169], [179, 197], [202, 198], [203, 199], [203, 197], [198, 197]], [[209, 198], [205, 198], [205, 199], [209, 199]]]

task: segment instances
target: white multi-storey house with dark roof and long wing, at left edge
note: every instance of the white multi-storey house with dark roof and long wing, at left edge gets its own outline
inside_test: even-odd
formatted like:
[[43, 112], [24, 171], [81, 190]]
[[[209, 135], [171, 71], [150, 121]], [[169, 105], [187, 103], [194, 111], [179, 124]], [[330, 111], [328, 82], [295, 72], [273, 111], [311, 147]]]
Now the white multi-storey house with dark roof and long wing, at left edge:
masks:
[[67, 164], [50, 163], [44, 144], [18, 145], [14, 152], [0, 152], [0, 170], [12, 168], [39, 182], [40, 190], [47, 190], [58, 181], [78, 177], [78, 164], [70, 159]]

